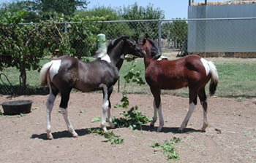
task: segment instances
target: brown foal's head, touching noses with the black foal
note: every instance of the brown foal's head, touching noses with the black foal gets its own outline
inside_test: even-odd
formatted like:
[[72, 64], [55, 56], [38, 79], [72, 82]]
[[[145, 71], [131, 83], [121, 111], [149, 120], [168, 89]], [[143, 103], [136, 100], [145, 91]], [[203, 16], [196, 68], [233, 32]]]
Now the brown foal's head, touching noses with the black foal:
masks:
[[158, 59], [161, 56], [159, 48], [157, 46], [157, 42], [153, 39], [150, 39], [148, 37], [148, 34], [143, 36], [138, 45], [146, 51], [146, 55], [153, 59]]

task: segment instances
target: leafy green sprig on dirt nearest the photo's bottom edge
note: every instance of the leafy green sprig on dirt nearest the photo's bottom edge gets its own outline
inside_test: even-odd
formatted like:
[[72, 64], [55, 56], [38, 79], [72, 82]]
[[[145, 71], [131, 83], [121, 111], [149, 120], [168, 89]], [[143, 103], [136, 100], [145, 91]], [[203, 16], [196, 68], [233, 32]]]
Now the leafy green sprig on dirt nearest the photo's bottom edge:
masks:
[[174, 145], [179, 142], [181, 142], [180, 138], [173, 137], [173, 139], [171, 139], [170, 141], [165, 140], [165, 143], [163, 144], [153, 143], [153, 144], [150, 144], [149, 146], [152, 148], [162, 148], [161, 150], [162, 154], [164, 154], [165, 157], [167, 157], [167, 160], [169, 159], [178, 160], [179, 156], [176, 152], [176, 148], [174, 147]]

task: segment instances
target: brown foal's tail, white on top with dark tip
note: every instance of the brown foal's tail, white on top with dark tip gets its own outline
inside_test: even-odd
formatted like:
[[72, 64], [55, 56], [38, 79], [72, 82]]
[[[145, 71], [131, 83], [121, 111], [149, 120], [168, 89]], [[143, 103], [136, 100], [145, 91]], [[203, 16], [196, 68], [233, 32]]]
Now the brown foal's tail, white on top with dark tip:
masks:
[[210, 83], [209, 91], [210, 91], [210, 95], [214, 95], [214, 93], [217, 89], [218, 82], [219, 82], [219, 75], [218, 75], [218, 71], [217, 71], [217, 68], [215, 67], [214, 63], [209, 61], [208, 65], [209, 65], [210, 73], [211, 73], [211, 83]]

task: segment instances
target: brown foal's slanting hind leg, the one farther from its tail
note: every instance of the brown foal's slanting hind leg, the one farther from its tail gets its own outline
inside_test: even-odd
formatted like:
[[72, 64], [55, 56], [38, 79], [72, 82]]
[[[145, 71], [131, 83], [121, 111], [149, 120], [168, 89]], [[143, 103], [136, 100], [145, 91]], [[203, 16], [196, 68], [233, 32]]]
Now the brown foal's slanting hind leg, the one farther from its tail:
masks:
[[189, 111], [187, 112], [187, 116], [185, 117], [184, 121], [181, 124], [181, 127], [178, 129], [178, 132], [182, 132], [185, 127], [187, 127], [187, 123], [197, 105], [197, 95], [195, 91], [189, 89]]

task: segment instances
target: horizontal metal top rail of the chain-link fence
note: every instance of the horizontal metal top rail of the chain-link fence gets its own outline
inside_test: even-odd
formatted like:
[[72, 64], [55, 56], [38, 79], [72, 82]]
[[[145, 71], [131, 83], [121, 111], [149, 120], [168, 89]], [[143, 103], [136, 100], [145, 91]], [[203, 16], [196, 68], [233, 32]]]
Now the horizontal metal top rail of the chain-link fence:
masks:
[[[129, 23], [129, 22], [173, 22], [173, 21], [203, 21], [203, 20], [256, 20], [256, 17], [222, 17], [222, 18], [192, 18], [192, 19], [154, 19], [154, 20], [107, 20], [107, 21], [92, 21], [91, 23]], [[54, 22], [56, 24], [79, 24], [89, 23], [84, 22]], [[20, 25], [37, 25], [39, 23], [19, 23]], [[50, 24], [50, 23], [45, 23]], [[7, 25], [7, 24], [4, 24]]]

